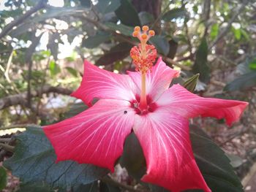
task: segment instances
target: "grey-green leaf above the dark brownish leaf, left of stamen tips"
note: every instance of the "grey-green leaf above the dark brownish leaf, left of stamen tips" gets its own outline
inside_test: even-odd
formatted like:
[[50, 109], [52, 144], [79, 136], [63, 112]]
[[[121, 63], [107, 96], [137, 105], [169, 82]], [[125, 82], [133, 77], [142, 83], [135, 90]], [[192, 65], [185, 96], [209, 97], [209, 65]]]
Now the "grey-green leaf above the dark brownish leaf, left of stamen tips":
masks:
[[82, 46], [92, 49], [94, 47], [98, 47], [100, 44], [102, 44], [105, 41], [108, 41], [110, 39], [110, 34], [96, 34], [93, 37], [88, 37], [83, 41]]

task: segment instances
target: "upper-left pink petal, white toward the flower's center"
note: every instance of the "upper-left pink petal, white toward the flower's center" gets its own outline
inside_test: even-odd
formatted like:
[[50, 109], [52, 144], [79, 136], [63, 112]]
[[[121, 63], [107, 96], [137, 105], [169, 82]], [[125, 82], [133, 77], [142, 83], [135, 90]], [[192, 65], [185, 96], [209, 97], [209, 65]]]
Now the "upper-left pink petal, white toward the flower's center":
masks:
[[84, 62], [83, 80], [71, 96], [82, 99], [87, 105], [92, 99], [135, 99], [137, 87], [128, 74], [116, 74]]

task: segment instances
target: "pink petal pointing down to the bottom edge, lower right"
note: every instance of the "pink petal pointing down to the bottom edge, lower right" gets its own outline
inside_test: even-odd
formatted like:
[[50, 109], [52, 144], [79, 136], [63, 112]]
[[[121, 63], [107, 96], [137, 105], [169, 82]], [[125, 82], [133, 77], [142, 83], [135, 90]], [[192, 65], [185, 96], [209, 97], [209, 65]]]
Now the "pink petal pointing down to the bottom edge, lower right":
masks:
[[195, 163], [186, 118], [160, 107], [147, 115], [135, 115], [133, 129], [146, 158], [143, 181], [173, 192], [211, 191]]

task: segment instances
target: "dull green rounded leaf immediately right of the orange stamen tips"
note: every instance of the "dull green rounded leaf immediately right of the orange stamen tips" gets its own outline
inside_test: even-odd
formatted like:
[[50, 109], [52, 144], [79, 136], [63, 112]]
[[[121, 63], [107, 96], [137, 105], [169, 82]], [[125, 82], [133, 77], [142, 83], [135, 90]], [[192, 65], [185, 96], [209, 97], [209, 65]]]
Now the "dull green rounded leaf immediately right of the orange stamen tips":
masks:
[[156, 35], [154, 37], [151, 37], [151, 39], [149, 39], [149, 42], [151, 42], [151, 44], [153, 44], [157, 48], [159, 53], [162, 53], [164, 55], [167, 55], [169, 53], [170, 45], [165, 37]]

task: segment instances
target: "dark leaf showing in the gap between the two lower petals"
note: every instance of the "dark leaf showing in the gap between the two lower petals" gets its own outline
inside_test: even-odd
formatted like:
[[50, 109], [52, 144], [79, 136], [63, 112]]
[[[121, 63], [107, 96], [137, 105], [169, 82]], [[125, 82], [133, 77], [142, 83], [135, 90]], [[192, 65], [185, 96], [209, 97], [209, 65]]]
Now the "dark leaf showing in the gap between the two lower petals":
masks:
[[121, 155], [119, 163], [136, 180], [140, 180], [143, 174], [146, 174], [146, 160], [140, 142], [134, 133], [129, 134], [125, 140], [124, 152]]

